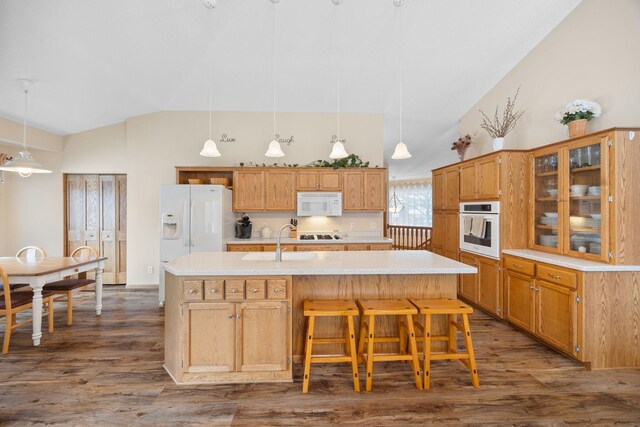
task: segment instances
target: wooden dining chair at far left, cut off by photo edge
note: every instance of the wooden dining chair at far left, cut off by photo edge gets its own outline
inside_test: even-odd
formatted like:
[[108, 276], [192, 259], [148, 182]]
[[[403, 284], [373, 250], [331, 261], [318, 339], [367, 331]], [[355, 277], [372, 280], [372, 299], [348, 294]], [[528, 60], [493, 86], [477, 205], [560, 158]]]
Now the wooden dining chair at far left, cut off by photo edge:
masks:
[[[9, 278], [4, 269], [0, 268], [0, 276], [2, 276], [3, 295], [0, 298], [0, 316], [5, 316], [6, 328], [4, 331], [4, 345], [2, 346], [2, 354], [9, 352], [9, 341], [11, 333], [18, 326], [33, 321], [33, 318], [17, 322], [17, 313], [33, 308], [33, 291], [31, 292], [11, 292], [9, 286]], [[42, 291], [42, 316], [47, 316], [49, 321], [49, 333], [53, 333], [53, 294]], [[44, 310], [46, 308], [46, 311]]]

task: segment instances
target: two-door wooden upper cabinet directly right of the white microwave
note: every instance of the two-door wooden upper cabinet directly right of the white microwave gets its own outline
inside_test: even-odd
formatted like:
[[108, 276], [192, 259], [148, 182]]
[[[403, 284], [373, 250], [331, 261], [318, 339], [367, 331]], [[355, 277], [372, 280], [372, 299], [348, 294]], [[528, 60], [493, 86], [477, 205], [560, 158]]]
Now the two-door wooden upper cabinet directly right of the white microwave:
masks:
[[344, 171], [342, 209], [382, 211], [386, 207], [386, 169]]

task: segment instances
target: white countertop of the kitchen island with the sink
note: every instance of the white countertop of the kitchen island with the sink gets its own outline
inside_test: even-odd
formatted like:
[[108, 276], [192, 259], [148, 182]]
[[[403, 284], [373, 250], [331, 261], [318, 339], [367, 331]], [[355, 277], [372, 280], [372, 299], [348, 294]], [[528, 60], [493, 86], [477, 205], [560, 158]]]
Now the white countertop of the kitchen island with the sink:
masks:
[[[268, 261], [246, 261], [248, 254], [272, 254]], [[299, 253], [299, 252], [295, 252]], [[428, 251], [309, 252], [312, 260], [275, 262], [271, 252], [196, 252], [165, 264], [176, 276], [316, 276], [363, 274], [473, 274], [475, 267]]]

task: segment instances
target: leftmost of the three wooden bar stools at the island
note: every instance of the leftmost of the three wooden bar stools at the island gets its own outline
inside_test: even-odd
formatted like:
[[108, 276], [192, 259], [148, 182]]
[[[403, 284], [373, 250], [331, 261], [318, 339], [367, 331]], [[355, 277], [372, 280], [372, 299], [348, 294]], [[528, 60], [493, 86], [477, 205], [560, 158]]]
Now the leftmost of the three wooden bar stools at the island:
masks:
[[[359, 314], [358, 307], [351, 300], [305, 300], [304, 315], [307, 318], [307, 337], [304, 352], [304, 379], [302, 392], [309, 391], [309, 373], [312, 363], [351, 362], [353, 372], [353, 389], [360, 391], [358, 379], [358, 356], [356, 354], [356, 339], [353, 318]], [[343, 338], [314, 338], [313, 331], [316, 317], [341, 316], [345, 320], [345, 335]], [[341, 355], [313, 356], [314, 344], [344, 344], [345, 352]]]

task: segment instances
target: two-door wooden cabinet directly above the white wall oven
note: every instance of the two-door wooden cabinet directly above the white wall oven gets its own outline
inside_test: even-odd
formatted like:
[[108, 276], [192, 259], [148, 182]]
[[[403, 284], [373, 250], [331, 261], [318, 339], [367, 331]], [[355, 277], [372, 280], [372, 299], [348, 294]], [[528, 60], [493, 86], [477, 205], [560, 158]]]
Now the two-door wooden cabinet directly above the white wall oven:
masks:
[[493, 155], [460, 167], [460, 200], [500, 198], [500, 156]]

